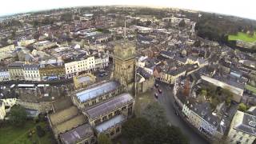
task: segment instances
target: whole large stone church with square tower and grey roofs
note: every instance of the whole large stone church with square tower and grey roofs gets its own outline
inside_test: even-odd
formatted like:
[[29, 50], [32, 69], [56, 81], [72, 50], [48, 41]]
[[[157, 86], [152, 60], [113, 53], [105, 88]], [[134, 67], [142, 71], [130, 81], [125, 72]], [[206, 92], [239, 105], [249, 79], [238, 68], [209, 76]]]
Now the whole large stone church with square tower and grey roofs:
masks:
[[122, 132], [122, 122], [134, 114], [134, 43], [117, 42], [112, 57], [110, 80], [80, 88], [54, 102], [54, 113], [48, 114], [48, 119], [58, 143], [93, 144], [101, 133], [115, 138]]

